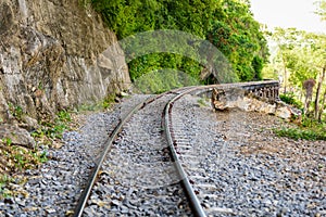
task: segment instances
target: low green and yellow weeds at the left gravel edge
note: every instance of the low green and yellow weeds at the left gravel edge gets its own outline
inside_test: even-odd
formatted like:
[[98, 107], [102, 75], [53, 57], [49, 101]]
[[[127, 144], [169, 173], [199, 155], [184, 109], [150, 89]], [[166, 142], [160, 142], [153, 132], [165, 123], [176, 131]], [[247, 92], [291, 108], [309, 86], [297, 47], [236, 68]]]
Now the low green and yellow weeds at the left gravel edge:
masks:
[[[40, 127], [32, 132], [37, 141], [34, 149], [13, 144], [10, 138], [0, 140], [0, 199], [11, 195], [5, 187], [15, 179], [17, 174], [37, 168], [48, 161], [47, 146], [53, 145], [58, 139], [62, 138], [64, 130], [70, 129], [71, 120], [70, 113], [61, 111], [53, 122], [41, 123]], [[42, 149], [39, 148], [39, 144], [42, 145]]]

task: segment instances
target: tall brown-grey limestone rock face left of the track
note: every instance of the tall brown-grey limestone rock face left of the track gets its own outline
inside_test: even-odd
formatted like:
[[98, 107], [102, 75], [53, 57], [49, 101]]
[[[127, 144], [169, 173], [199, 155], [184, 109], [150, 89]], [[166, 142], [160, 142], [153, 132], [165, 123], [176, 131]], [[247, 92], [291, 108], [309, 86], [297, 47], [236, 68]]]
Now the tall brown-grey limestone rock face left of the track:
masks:
[[0, 1], [0, 118], [30, 117], [118, 93], [130, 82], [116, 36], [78, 0]]

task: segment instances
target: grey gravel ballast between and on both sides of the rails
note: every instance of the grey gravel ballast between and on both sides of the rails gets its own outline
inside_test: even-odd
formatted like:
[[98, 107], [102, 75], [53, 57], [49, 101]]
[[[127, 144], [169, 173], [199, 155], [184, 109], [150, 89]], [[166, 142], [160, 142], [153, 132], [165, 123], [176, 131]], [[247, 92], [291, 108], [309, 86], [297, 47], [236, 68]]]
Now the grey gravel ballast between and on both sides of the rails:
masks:
[[[148, 97], [124, 99], [111, 112], [79, 115], [83, 126], [64, 133], [61, 149], [48, 150], [52, 158], [37, 170], [27, 170], [24, 177], [28, 181], [24, 186], [9, 187], [20, 193], [0, 201], [0, 216], [71, 215], [106, 137], [133, 104]], [[326, 216], [325, 141], [279, 138], [272, 129], [289, 124], [275, 116], [241, 111], [214, 113], [209, 104], [202, 103], [200, 98], [188, 95], [175, 104], [174, 115], [178, 118], [176, 127], [185, 132], [184, 141], [193, 146], [197, 156], [191, 168], [203, 169], [202, 174], [216, 187], [214, 197], [202, 199], [205, 206], [217, 208], [215, 216]], [[164, 176], [170, 174], [168, 181], [161, 179], [164, 177], [162, 175], [152, 175], [158, 181], [154, 186], [148, 182], [140, 184], [137, 179], [134, 183], [117, 180], [122, 174], [127, 174], [133, 164], [142, 164], [147, 158], [146, 168], [151, 168], [151, 165], [158, 167], [159, 162], [168, 161], [168, 154], [158, 161], [149, 158], [158, 153], [164, 156], [166, 152], [164, 145], [155, 146], [161, 138], [159, 120], [152, 124], [154, 129], [137, 125], [150, 122], [151, 116], [155, 115], [161, 117], [159, 108], [155, 112], [145, 111], [126, 126], [115, 142], [115, 152], [110, 155], [110, 161], [120, 158], [121, 162], [115, 165], [117, 170], [115, 175], [111, 174], [113, 169], [102, 171], [100, 179], [105, 184], [96, 186], [102, 193], [91, 195], [89, 207], [85, 210], [87, 216], [103, 215], [105, 212], [122, 216], [189, 214], [187, 204], [180, 201], [183, 192], [177, 186], [178, 180], [168, 169], [162, 171]], [[129, 132], [133, 128], [137, 128], [138, 135]], [[143, 131], [148, 135], [145, 136]], [[127, 145], [137, 146], [133, 139], [139, 138], [153, 144], [154, 149], [142, 150], [138, 146], [135, 153], [128, 153]], [[142, 158], [135, 157], [136, 152]], [[105, 165], [112, 165], [112, 162], [105, 162]], [[140, 177], [150, 177], [153, 173], [146, 168], [147, 174], [139, 174]], [[176, 206], [164, 197], [166, 189]], [[162, 195], [162, 199], [151, 200], [151, 193]], [[101, 204], [105, 195], [111, 197]], [[175, 207], [168, 213], [162, 204]], [[177, 208], [187, 212], [177, 213]]]

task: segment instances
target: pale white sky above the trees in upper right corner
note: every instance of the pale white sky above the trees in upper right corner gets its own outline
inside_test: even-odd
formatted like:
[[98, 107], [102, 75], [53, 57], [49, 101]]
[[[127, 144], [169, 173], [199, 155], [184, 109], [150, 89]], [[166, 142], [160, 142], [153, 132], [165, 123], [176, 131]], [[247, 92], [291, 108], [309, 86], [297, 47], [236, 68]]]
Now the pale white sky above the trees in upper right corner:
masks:
[[256, 21], [274, 27], [296, 27], [301, 30], [326, 33], [326, 22], [314, 14], [315, 0], [251, 0]]

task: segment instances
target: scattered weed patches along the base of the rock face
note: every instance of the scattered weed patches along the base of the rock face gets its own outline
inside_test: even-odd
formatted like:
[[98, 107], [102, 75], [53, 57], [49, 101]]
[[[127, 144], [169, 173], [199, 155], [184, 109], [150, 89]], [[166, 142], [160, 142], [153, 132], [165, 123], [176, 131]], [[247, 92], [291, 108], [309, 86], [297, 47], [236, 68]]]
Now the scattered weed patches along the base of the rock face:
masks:
[[[108, 95], [104, 100], [82, 110], [106, 110], [114, 104], [116, 95]], [[10, 112], [16, 120], [22, 122], [24, 112], [21, 106], [10, 104]], [[12, 143], [10, 138], [0, 140], [0, 199], [11, 196], [8, 184], [20, 181], [16, 176], [26, 169], [37, 168], [48, 161], [47, 149], [60, 148], [63, 132], [71, 129], [73, 120], [71, 111], [62, 110], [55, 114], [52, 120], [39, 123], [39, 127], [30, 132], [36, 141], [34, 149]], [[41, 145], [41, 148], [40, 148]]]

